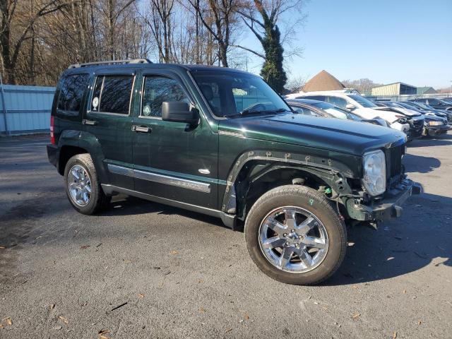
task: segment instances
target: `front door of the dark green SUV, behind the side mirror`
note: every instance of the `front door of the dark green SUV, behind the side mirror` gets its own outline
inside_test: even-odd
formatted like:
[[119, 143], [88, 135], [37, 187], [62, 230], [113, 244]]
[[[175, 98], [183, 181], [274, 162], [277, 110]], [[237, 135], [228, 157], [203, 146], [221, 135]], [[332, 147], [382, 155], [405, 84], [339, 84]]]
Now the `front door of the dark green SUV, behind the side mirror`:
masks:
[[133, 119], [135, 190], [217, 209], [218, 134], [203, 114], [197, 126], [162, 121], [162, 102], [194, 102], [176, 74], [144, 73], [141, 80]]

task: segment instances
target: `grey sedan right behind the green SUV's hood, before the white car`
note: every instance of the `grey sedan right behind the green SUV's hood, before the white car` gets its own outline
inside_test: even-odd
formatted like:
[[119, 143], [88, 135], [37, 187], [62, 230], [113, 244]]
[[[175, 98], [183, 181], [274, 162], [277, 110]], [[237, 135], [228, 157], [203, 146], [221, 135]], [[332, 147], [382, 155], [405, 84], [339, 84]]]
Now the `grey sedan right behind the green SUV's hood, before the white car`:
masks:
[[347, 119], [388, 127], [388, 123], [385, 119], [362, 119], [362, 117], [359, 117], [358, 115], [347, 111], [347, 109], [331, 105], [330, 103], [324, 101], [311, 99], [292, 99], [287, 100], [287, 103], [295, 112], [299, 114], [310, 115], [311, 117]]

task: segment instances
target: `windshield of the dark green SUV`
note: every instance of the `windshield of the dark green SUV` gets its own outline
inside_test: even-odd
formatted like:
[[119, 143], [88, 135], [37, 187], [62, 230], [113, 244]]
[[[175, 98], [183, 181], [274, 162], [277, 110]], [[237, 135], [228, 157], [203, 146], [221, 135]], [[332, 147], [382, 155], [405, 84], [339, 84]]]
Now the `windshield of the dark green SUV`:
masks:
[[229, 71], [199, 71], [191, 74], [217, 117], [237, 117], [244, 111], [290, 112], [283, 99], [258, 76]]

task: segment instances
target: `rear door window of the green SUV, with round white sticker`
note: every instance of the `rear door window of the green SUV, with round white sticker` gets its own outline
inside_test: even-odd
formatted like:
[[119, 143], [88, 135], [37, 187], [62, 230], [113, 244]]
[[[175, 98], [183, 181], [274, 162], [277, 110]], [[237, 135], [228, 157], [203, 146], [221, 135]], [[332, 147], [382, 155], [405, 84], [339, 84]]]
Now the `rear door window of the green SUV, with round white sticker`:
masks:
[[133, 76], [98, 76], [94, 86], [91, 110], [129, 114]]

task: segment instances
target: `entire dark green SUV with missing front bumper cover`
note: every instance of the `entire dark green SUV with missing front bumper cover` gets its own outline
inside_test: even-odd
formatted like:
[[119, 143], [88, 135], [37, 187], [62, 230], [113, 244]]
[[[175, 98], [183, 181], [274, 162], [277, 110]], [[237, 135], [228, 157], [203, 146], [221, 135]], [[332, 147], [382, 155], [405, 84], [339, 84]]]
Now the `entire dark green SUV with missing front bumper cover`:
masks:
[[264, 273], [319, 283], [345, 256], [345, 222], [400, 216], [405, 134], [292, 112], [261, 78], [146, 59], [77, 64], [61, 75], [49, 161], [73, 208], [129, 194], [244, 223]]

